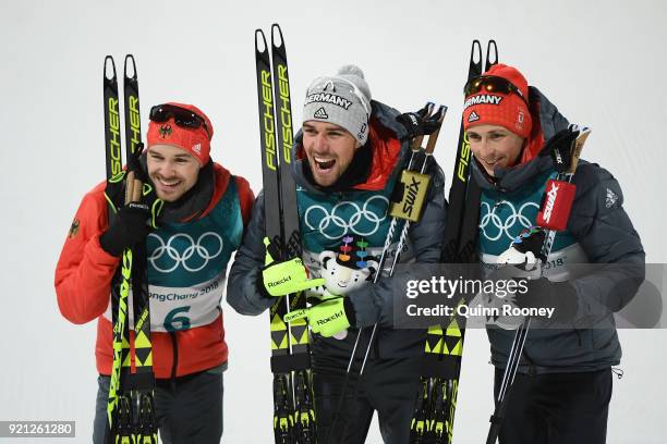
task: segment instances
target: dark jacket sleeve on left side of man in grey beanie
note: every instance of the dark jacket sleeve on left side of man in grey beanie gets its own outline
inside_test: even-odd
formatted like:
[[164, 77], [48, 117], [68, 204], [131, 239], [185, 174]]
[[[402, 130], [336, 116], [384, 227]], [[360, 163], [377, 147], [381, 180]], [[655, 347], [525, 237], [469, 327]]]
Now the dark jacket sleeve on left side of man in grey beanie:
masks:
[[276, 301], [262, 295], [257, 288], [257, 280], [264, 267], [264, 193], [262, 192], [255, 200], [253, 215], [227, 281], [227, 303], [241, 314], [259, 314]]

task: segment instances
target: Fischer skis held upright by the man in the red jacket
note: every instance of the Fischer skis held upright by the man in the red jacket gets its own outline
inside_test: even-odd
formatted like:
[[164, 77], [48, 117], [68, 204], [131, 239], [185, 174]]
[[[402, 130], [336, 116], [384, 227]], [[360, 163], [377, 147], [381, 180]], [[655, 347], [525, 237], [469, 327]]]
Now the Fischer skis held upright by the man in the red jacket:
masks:
[[[131, 54], [125, 55], [123, 92], [125, 157], [130, 159], [143, 149], [136, 64]], [[125, 199], [121, 205], [140, 201], [144, 194], [144, 184], [135, 178], [134, 172], [125, 173], [122, 169], [120, 99], [116, 63], [111, 55], [105, 58], [104, 65], [104, 110], [107, 189], [118, 187], [124, 181]], [[108, 194], [107, 199], [111, 221], [119, 202], [113, 202]], [[130, 297], [134, 309], [132, 346], [128, 319]], [[113, 366], [105, 443], [157, 444], [145, 245], [126, 248], [122, 252], [121, 264], [111, 281], [111, 312]]]

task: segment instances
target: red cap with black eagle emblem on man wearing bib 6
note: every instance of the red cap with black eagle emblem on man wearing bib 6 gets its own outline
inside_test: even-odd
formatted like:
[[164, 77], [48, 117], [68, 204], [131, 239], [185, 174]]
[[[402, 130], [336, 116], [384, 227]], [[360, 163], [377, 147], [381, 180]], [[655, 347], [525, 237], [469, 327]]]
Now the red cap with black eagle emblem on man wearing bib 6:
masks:
[[214, 134], [210, 120], [208, 120], [208, 116], [194, 104], [177, 102], [169, 102], [168, 104], [192, 111], [204, 119], [208, 132], [206, 132], [204, 126], [199, 126], [198, 128], [179, 126], [174, 123], [173, 118], [169, 119], [167, 122], [150, 121], [148, 123], [148, 135], [146, 136], [148, 149], [150, 149], [153, 145], [173, 145], [190, 152], [199, 161], [199, 164], [206, 164], [208, 159], [210, 159], [210, 139]]

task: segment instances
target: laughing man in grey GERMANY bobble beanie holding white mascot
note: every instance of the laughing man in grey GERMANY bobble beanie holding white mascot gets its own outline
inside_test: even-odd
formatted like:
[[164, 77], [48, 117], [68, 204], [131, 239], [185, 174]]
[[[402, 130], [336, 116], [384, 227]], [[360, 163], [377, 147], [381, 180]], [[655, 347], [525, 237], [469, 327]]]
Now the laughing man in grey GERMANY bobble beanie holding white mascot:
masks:
[[[377, 285], [369, 281], [378, 272], [372, 258], [379, 257], [391, 222], [387, 214], [390, 195], [410, 155], [409, 141], [401, 141], [405, 128], [397, 123], [396, 110], [371, 100], [368, 85], [356, 66], [315, 79], [307, 90], [303, 115], [292, 170], [298, 184], [303, 263], [311, 276], [326, 278], [325, 285], [316, 288], [325, 301], [308, 309], [308, 323], [317, 333], [312, 353], [318, 439], [329, 432], [360, 329], [377, 323], [356, 399], [345, 403], [335, 430], [344, 430], [344, 436], [331, 442], [363, 443], [377, 410], [385, 442], [404, 443], [417, 394], [425, 331], [393, 329], [391, 280], [400, 273]], [[435, 163], [430, 171], [428, 201], [422, 219], [411, 225], [401, 261], [437, 262], [439, 258], [444, 177]], [[274, 286], [266, 288], [264, 284], [264, 233], [260, 195], [228, 284], [228, 301], [243, 314], [262, 313], [275, 301]], [[295, 281], [301, 279], [296, 274], [304, 275], [295, 273]], [[336, 313], [342, 316], [332, 316]], [[361, 351], [368, 345], [369, 330], [361, 336]], [[359, 372], [359, 363], [353, 372]]]

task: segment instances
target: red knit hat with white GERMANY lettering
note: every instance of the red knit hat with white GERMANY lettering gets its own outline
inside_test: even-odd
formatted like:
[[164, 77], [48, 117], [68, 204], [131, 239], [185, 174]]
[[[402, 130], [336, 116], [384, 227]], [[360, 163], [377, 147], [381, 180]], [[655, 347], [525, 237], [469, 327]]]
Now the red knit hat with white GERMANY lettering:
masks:
[[[512, 66], [498, 63], [484, 75], [502, 77], [514, 85], [527, 101], [529, 89], [525, 77]], [[465, 131], [474, 125], [500, 125], [521, 137], [527, 137], [533, 119], [523, 99], [516, 92], [480, 91], [465, 98], [463, 126]]]

